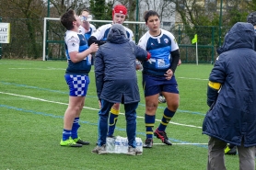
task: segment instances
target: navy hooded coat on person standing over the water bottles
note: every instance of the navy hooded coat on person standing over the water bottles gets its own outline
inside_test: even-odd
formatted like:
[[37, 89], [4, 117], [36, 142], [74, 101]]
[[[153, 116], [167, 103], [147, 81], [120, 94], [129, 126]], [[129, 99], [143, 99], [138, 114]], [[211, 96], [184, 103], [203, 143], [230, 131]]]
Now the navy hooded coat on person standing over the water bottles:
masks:
[[147, 52], [126, 38], [118, 28], [111, 28], [107, 43], [99, 47], [95, 58], [95, 79], [99, 99], [111, 103], [140, 101], [135, 60], [146, 59]]

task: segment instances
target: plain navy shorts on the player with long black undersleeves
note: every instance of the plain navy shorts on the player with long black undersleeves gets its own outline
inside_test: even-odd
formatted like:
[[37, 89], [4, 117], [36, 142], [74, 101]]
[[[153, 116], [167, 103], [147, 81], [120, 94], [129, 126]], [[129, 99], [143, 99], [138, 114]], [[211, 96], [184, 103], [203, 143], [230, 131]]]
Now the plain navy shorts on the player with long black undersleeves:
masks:
[[170, 80], [166, 77], [156, 77], [148, 74], [143, 74], [143, 89], [145, 96], [153, 96], [160, 92], [169, 92], [179, 94], [178, 84], [175, 76]]

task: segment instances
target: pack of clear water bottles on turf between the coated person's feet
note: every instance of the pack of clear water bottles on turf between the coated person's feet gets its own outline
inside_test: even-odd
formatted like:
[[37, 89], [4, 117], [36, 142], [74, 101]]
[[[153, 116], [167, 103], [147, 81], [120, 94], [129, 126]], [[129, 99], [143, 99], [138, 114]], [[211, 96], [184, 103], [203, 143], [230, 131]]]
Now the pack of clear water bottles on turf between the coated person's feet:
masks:
[[[141, 138], [135, 138], [136, 149], [143, 152], [143, 143]], [[128, 152], [128, 140], [121, 136], [114, 138], [107, 138], [106, 150], [108, 153], [127, 153]]]

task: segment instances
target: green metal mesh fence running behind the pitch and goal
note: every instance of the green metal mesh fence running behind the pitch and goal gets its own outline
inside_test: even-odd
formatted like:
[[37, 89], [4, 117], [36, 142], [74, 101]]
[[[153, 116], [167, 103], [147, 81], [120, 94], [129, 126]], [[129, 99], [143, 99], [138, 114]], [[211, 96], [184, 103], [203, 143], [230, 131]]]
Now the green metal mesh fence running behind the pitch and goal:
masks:
[[[0, 18], [1, 21], [1, 18]], [[11, 39], [9, 44], [0, 44], [2, 58], [34, 58], [42, 59], [43, 53], [43, 18], [41, 19], [20, 19], [2, 18], [2, 22], [11, 23]], [[91, 22], [96, 28], [106, 22]], [[134, 31], [134, 37], [139, 40], [147, 28], [145, 24], [125, 23], [125, 27]], [[169, 30], [180, 47], [180, 59], [183, 63], [195, 63], [195, 44], [192, 44], [194, 34], [198, 35], [198, 62], [212, 63], [216, 57], [216, 47], [219, 44], [219, 28], [209, 26], [182, 26], [176, 25], [165, 27]], [[225, 35], [228, 28], [222, 28]], [[65, 29], [60, 21], [47, 21], [47, 36], [45, 55], [48, 60], [66, 60], [64, 54], [64, 32]], [[224, 37], [224, 36], [222, 36]], [[0, 53], [1, 54], [1, 53]]]

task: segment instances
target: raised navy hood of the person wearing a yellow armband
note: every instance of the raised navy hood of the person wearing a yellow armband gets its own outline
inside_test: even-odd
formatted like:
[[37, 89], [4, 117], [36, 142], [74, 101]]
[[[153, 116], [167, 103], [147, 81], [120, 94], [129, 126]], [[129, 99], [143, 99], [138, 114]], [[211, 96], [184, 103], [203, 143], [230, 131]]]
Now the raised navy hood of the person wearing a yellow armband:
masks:
[[238, 48], [254, 49], [255, 31], [250, 23], [238, 22], [230, 28], [225, 36], [223, 46], [217, 49], [221, 54]]

